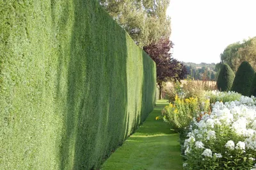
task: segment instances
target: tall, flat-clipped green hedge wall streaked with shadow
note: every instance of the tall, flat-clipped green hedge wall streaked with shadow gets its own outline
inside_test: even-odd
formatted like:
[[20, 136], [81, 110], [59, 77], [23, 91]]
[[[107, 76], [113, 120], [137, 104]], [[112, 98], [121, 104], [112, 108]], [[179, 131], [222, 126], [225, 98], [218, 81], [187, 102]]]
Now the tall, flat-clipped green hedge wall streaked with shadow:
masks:
[[0, 2], [0, 169], [97, 169], [156, 100], [156, 64], [93, 0]]

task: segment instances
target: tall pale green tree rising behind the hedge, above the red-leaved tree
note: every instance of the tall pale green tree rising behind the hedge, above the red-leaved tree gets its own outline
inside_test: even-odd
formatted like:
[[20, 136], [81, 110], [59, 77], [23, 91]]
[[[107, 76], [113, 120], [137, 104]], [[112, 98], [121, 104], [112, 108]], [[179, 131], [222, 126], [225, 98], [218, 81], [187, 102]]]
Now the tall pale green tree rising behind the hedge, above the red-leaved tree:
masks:
[[140, 47], [170, 37], [170, 0], [99, 0], [113, 19]]

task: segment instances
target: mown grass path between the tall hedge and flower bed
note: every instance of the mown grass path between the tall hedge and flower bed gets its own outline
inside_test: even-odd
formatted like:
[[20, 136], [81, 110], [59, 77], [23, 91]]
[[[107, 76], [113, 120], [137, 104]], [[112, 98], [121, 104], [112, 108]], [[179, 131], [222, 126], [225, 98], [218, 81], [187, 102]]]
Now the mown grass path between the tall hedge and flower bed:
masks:
[[143, 125], [113, 153], [102, 169], [182, 169], [179, 134], [156, 120], [168, 103], [159, 100]]

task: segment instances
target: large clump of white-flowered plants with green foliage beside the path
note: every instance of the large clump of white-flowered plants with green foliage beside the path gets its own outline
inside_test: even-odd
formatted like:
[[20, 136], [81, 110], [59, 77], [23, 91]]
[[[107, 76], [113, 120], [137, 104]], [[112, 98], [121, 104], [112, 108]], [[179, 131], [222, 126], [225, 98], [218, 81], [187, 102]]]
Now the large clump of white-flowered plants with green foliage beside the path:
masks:
[[184, 169], [255, 169], [255, 98], [215, 102], [211, 114], [193, 119], [186, 136]]

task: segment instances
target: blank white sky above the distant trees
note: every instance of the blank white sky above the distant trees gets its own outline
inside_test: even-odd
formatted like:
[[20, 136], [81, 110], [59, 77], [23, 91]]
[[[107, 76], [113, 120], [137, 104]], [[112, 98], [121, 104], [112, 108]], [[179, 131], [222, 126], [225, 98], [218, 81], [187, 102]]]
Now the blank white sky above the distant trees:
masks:
[[173, 58], [219, 63], [231, 43], [256, 36], [256, 0], [170, 0]]

